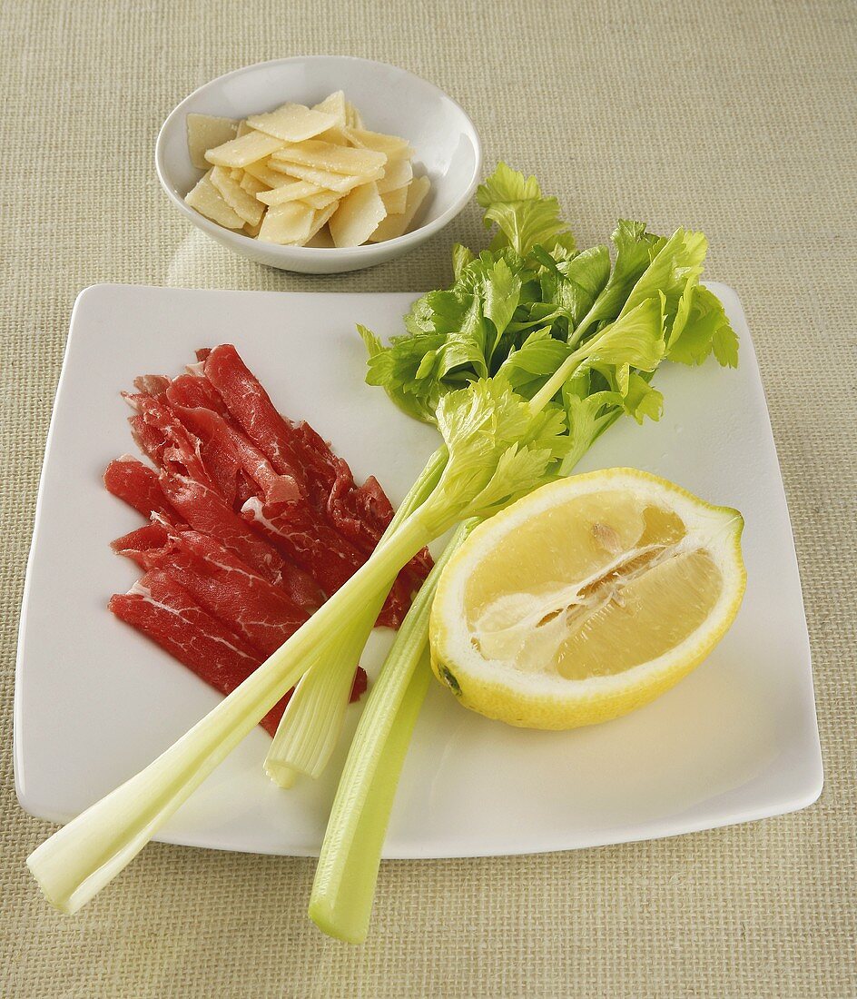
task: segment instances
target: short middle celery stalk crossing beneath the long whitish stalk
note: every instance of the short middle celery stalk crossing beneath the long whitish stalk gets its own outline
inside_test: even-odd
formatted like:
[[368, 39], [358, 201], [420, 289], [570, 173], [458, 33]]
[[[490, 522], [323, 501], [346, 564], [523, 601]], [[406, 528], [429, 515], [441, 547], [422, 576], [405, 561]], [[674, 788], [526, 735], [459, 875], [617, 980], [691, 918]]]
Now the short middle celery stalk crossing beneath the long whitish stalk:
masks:
[[[398, 530], [403, 521], [427, 499], [446, 464], [446, 454], [443, 446], [428, 460], [382, 540]], [[327, 766], [342, 729], [355, 667], [393, 581], [390, 580], [375, 600], [367, 601], [366, 612], [349, 626], [344, 637], [338, 638], [333, 647], [326, 646], [320, 650], [315, 662], [298, 683], [265, 759], [265, 772], [280, 787], [292, 787], [301, 773], [318, 777]]]

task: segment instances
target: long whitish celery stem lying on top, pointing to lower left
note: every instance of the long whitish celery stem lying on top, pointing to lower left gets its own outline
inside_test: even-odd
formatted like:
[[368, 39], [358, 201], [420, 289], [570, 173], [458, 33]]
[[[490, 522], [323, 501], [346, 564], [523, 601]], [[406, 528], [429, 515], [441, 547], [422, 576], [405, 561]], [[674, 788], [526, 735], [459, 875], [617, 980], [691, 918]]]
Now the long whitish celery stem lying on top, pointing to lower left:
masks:
[[54, 833], [27, 858], [50, 902], [76, 912], [112, 880], [176, 809], [294, 686], [319, 645], [360, 616], [367, 593], [385, 583], [431, 539], [420, 512], [255, 672], [136, 776]]

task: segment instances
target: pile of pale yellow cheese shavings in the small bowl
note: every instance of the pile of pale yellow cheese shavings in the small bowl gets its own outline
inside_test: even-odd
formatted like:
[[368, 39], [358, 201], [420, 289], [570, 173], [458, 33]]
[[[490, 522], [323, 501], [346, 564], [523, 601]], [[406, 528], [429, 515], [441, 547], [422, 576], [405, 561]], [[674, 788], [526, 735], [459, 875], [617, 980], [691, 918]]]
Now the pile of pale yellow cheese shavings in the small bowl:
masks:
[[364, 128], [343, 91], [244, 121], [188, 115], [187, 195], [226, 229], [282, 246], [357, 247], [404, 235], [427, 194], [406, 139]]

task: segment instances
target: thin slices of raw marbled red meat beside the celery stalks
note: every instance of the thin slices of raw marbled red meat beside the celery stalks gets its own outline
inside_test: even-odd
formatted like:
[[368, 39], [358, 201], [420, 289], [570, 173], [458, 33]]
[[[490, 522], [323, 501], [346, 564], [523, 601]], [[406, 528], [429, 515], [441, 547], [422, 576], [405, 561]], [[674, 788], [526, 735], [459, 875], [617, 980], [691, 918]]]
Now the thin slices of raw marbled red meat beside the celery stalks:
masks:
[[[125, 399], [157, 472], [125, 456], [108, 490], [150, 522], [113, 547], [146, 575], [110, 608], [229, 693], [363, 565], [393, 506], [306, 423], [277, 412], [231, 345], [176, 379], [147, 375]], [[430, 568], [403, 569], [379, 617], [398, 626]], [[366, 689], [358, 670], [353, 697]], [[272, 733], [287, 698], [263, 725]]]

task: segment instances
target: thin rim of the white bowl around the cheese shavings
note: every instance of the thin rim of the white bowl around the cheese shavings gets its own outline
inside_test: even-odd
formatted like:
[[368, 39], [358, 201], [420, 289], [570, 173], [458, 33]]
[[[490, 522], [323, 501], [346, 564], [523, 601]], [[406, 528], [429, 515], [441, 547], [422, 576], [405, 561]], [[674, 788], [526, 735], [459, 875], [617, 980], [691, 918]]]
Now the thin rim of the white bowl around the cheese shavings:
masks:
[[[470, 121], [469, 115], [464, 111], [457, 101], [453, 100], [445, 91], [441, 90], [436, 84], [431, 83], [428, 80], [423, 79], [423, 77], [418, 76], [416, 73], [412, 73], [410, 70], [403, 69], [401, 66], [394, 66], [391, 63], [381, 62], [377, 59], [364, 59], [361, 56], [289, 56], [284, 59], [269, 59], [265, 62], [252, 63], [250, 66], [242, 66], [239, 69], [231, 70], [229, 73], [224, 73], [221, 76], [215, 77], [213, 80], [209, 80], [208, 83], [204, 83], [197, 87], [195, 91], [188, 94], [188, 96], [178, 104], [167, 116], [164, 124], [161, 126], [158, 132], [158, 139], [155, 144], [155, 169], [158, 171], [158, 179], [161, 181], [161, 186], [166, 191], [168, 197], [173, 202], [173, 204], [192, 222], [201, 228], [207, 230], [208, 232], [216, 233], [218, 236], [227, 234], [228, 236], [234, 236], [238, 240], [248, 240], [254, 242], [253, 237], [247, 236], [245, 233], [233, 232], [232, 230], [224, 229], [223, 226], [219, 226], [216, 222], [212, 222], [207, 219], [204, 215], [199, 212], [194, 211], [188, 205], [185, 204], [184, 200], [177, 197], [176, 192], [173, 190], [173, 186], [168, 179], [168, 168], [164, 162], [164, 137], [167, 134], [173, 121], [182, 116], [187, 115], [189, 105], [194, 101], [194, 98], [204, 90], [208, 90], [213, 84], [220, 83], [223, 80], [228, 80], [233, 76], [239, 76], [242, 73], [247, 73], [250, 70], [260, 69], [263, 66], [277, 66], [285, 65], [287, 63], [294, 62], [317, 62], [328, 59], [342, 59], [348, 62], [365, 63], [369, 66], [382, 66], [385, 69], [394, 69], [399, 73], [404, 73], [407, 76], [414, 77], [416, 80], [420, 80], [421, 83], [425, 84], [431, 90], [435, 91], [444, 101], [448, 101], [449, 104], [457, 108], [460, 112], [464, 122], [469, 128], [470, 139], [473, 143], [473, 151], [475, 153], [473, 161], [473, 173], [467, 183], [466, 188], [462, 191], [458, 198], [446, 209], [442, 215], [437, 216], [436, 219], [432, 219], [425, 226], [419, 226], [417, 229], [412, 230], [409, 233], [405, 233], [404, 236], [397, 236], [393, 240], [388, 240], [384, 244], [377, 243], [366, 243], [359, 247], [283, 247], [282, 249], [288, 250], [290, 255], [300, 251], [302, 254], [313, 254], [319, 260], [336, 260], [343, 254], [372, 254], [377, 252], [380, 245], [391, 247], [397, 246], [403, 252], [407, 251], [410, 247], [416, 246], [418, 243], [422, 243], [433, 233], [438, 232], [442, 229], [447, 222], [453, 219], [463, 208], [463, 206], [472, 197], [473, 191], [476, 189], [476, 185], [479, 181], [479, 174], [481, 173], [482, 167], [482, 144], [479, 140], [478, 133], [476, 132], [475, 126], [472, 121]], [[276, 250], [277, 245], [271, 244], [270, 249]]]

